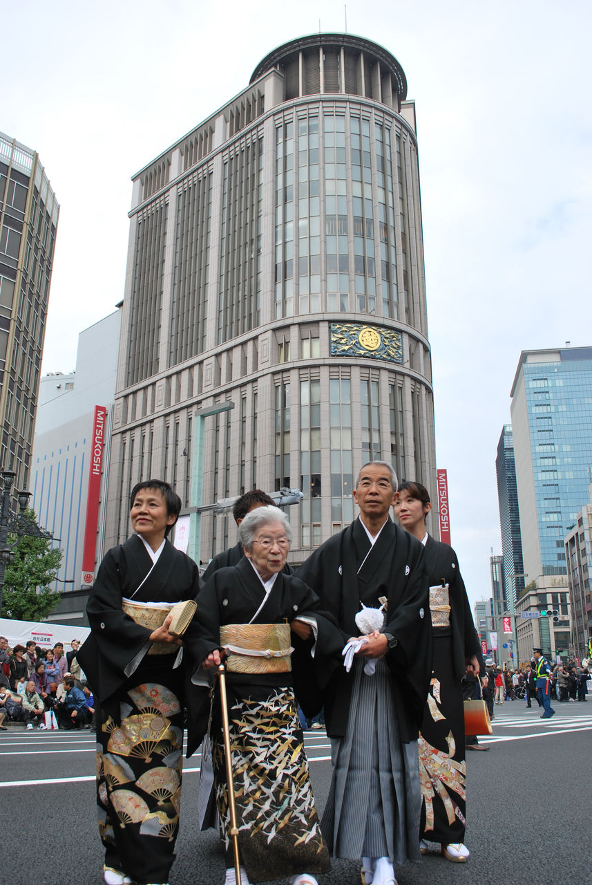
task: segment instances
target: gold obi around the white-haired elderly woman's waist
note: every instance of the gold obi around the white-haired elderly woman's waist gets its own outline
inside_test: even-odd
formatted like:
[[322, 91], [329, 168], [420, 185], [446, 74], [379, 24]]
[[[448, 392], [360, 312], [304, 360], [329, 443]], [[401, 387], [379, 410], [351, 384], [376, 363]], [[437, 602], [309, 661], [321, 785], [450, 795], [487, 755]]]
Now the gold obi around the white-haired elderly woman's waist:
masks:
[[227, 624], [220, 644], [228, 652], [229, 673], [290, 673], [289, 624]]

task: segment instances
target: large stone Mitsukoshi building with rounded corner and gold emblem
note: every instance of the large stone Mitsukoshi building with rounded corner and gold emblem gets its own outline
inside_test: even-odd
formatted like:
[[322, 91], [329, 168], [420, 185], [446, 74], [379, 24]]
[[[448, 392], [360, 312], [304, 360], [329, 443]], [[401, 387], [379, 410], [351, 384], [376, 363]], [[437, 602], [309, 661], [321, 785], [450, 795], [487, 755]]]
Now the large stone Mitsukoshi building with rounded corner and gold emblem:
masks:
[[[406, 91], [376, 43], [302, 37], [133, 177], [108, 543], [151, 474], [186, 505], [198, 477], [203, 504], [300, 487], [292, 561], [353, 519], [364, 461], [436, 488]], [[231, 522], [205, 513], [189, 550], [235, 543]]]

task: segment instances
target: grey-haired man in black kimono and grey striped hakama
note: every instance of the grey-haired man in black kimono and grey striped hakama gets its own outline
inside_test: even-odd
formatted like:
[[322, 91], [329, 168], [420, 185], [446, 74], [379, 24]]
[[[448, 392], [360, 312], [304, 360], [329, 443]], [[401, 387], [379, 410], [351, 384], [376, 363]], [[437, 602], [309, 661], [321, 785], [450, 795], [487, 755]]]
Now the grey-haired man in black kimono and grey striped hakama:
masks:
[[423, 547], [389, 518], [396, 489], [391, 465], [364, 465], [353, 493], [359, 519], [298, 570], [338, 620], [345, 642], [360, 637], [362, 604], [386, 603], [383, 627], [368, 635], [349, 672], [335, 674], [324, 697], [333, 778], [323, 836], [334, 857], [362, 858], [367, 885], [393, 885], [393, 863], [420, 860], [417, 736], [429, 689], [431, 624]]

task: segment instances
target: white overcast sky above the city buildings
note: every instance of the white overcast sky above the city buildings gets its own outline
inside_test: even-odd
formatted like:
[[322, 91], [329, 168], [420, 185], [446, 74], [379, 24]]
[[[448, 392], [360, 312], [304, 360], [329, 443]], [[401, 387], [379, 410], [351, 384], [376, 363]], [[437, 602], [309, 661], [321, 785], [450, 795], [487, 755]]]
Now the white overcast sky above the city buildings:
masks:
[[[124, 294], [133, 173], [244, 89], [270, 50], [345, 30], [345, 6], [1, 10], [0, 131], [39, 151], [61, 205], [43, 372], [68, 372], [80, 331]], [[592, 344], [592, 4], [350, 0], [346, 17], [398, 58], [416, 103], [436, 461], [474, 601], [490, 596], [490, 548], [501, 552], [495, 457], [520, 350]]]

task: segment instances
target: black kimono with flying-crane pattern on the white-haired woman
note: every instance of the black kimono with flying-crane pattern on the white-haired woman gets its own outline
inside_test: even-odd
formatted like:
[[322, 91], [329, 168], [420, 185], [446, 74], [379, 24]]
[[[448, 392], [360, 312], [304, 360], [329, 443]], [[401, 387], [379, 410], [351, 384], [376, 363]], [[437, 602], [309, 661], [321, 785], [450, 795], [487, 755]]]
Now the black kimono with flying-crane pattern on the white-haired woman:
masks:
[[[219, 569], [199, 596], [195, 620], [200, 639], [193, 652], [202, 660], [220, 649], [220, 628], [229, 624], [280, 624], [314, 619], [314, 668], [322, 685], [338, 666], [343, 647], [337, 627], [320, 612], [318, 597], [298, 578], [279, 573], [267, 600], [259, 575], [247, 558]], [[298, 873], [323, 873], [329, 854], [323, 843], [308, 778], [307, 759], [293, 682], [300, 668], [311, 670], [312, 640], [291, 634], [292, 673], [226, 673], [234, 793], [239, 819], [239, 854], [248, 880]], [[201, 671], [198, 671], [200, 673]], [[194, 677], [194, 680], [196, 677]], [[224, 742], [216, 695], [209, 726], [221, 837], [231, 866], [230, 812]]]

